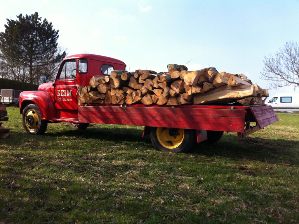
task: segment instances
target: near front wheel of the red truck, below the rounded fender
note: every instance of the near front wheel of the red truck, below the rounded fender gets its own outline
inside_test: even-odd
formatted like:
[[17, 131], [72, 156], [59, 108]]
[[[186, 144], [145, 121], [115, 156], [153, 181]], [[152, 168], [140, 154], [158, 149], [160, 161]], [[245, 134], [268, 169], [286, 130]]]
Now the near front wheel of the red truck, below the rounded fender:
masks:
[[39, 109], [35, 104], [26, 106], [22, 113], [22, 124], [29, 134], [42, 135], [48, 127], [48, 121], [40, 118]]

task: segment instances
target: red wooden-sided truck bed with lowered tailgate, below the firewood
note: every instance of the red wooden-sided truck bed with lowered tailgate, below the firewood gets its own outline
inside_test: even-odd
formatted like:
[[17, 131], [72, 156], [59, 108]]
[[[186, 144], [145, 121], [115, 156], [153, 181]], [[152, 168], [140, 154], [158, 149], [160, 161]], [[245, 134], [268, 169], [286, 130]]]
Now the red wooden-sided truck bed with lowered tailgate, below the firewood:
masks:
[[[82, 123], [124, 124], [195, 130], [238, 132], [255, 131], [278, 121], [271, 106], [158, 106], [103, 105], [78, 106]], [[250, 122], [256, 122], [254, 127]], [[252, 132], [250, 132], [252, 133]]]

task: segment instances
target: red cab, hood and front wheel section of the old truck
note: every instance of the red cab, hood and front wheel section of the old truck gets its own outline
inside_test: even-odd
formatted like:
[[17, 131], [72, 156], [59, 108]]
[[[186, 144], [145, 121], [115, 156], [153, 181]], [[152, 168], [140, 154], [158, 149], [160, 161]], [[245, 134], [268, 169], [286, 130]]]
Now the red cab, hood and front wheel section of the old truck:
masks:
[[[57, 122], [78, 121], [78, 91], [80, 86], [89, 85], [94, 75], [109, 76], [113, 70], [125, 70], [126, 64], [115, 58], [93, 54], [77, 54], [66, 57], [59, 68], [54, 82], [43, 83], [38, 91], [25, 91], [20, 94], [20, 113], [31, 104], [31, 109], [25, 114], [25, 126], [30, 133], [37, 131], [42, 121]], [[27, 109], [28, 110], [28, 109]], [[41, 118], [37, 121], [37, 114]], [[23, 119], [24, 120], [24, 119]]]

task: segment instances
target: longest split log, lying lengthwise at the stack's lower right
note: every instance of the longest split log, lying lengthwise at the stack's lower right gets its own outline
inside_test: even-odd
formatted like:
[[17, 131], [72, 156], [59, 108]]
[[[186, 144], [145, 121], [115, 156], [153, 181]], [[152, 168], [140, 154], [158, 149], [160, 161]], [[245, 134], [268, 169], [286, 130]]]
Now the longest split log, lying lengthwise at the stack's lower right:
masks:
[[222, 86], [207, 93], [195, 94], [193, 97], [194, 105], [203, 103], [224, 103], [231, 100], [257, 96], [254, 85]]

